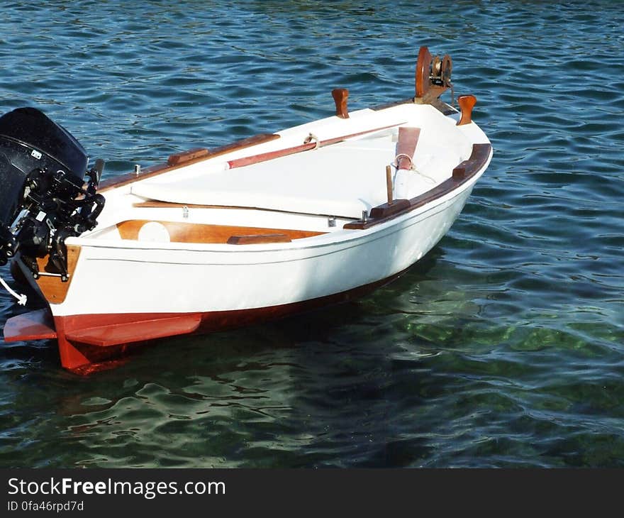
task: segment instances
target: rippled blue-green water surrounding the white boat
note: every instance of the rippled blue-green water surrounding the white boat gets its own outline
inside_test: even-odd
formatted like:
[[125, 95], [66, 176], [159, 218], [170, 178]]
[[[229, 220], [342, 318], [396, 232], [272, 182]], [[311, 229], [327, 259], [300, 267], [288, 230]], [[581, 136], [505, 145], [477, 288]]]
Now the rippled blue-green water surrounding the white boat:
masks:
[[440, 245], [357, 302], [89, 378], [4, 344], [1, 466], [624, 466], [621, 3], [3, 8], [1, 111], [43, 109], [106, 175], [328, 116], [337, 86], [409, 97], [419, 45], [452, 55], [495, 157]]

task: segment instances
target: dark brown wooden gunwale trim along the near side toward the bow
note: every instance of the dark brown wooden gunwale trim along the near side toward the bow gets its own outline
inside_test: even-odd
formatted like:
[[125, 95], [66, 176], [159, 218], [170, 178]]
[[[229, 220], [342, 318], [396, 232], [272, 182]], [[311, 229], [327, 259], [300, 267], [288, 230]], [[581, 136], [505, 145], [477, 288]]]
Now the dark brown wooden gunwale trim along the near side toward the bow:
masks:
[[[342, 226], [342, 228], [355, 230], [370, 228], [394, 219], [396, 216], [401, 216], [401, 214], [411, 212], [423, 205], [433, 202], [435, 199], [445, 196], [445, 194], [452, 192], [457, 189], [457, 187], [467, 182], [470, 178], [476, 175], [482, 167], [484, 167], [490, 156], [491, 149], [491, 144], [473, 144], [470, 158], [460, 162], [457, 167], [453, 169], [452, 176], [444, 182], [433, 187], [433, 189], [420, 194], [419, 196], [411, 198], [408, 204], [403, 204], [403, 206], [395, 209], [394, 211], [391, 211], [387, 204], [381, 204], [378, 207], [373, 207], [373, 209], [371, 209], [371, 217], [367, 219], [367, 221], [362, 219], [351, 221], [350, 223]], [[394, 203], [403, 201], [407, 200], [395, 200]], [[379, 209], [379, 211], [376, 211], [376, 209]], [[379, 214], [379, 216], [375, 216], [375, 214]]]

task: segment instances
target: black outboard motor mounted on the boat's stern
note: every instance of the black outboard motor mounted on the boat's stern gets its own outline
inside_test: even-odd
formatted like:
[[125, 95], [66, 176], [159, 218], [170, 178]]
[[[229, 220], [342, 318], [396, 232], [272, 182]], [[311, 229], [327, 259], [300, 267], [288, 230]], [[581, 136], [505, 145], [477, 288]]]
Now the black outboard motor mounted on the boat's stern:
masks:
[[87, 171], [88, 162], [82, 145], [38, 109], [0, 117], [0, 264], [19, 250], [37, 278], [36, 258], [50, 255], [46, 270], [67, 280], [65, 238], [94, 228], [104, 209], [96, 194], [104, 160]]

